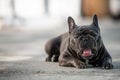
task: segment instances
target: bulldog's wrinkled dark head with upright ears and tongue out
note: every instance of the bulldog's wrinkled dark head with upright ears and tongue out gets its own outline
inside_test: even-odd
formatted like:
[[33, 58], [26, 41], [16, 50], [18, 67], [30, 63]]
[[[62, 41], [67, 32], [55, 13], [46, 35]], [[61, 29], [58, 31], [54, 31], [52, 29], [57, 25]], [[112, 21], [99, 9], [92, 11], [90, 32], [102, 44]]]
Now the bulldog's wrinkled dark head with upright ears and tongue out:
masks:
[[72, 17], [68, 17], [69, 46], [77, 56], [91, 59], [98, 54], [101, 46], [100, 28], [97, 15], [93, 16], [91, 25], [77, 26]]

